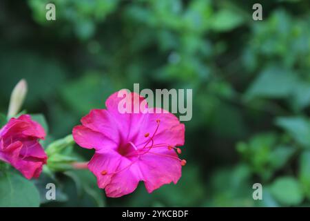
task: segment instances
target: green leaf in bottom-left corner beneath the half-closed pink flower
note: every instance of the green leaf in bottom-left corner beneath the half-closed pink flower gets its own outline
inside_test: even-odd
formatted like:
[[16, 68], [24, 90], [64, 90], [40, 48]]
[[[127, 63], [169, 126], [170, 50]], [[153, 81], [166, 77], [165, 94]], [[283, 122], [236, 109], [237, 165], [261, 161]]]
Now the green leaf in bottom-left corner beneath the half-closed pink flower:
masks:
[[15, 173], [0, 173], [0, 207], [34, 207], [39, 204], [39, 191], [32, 182]]

